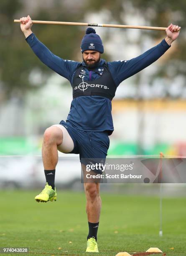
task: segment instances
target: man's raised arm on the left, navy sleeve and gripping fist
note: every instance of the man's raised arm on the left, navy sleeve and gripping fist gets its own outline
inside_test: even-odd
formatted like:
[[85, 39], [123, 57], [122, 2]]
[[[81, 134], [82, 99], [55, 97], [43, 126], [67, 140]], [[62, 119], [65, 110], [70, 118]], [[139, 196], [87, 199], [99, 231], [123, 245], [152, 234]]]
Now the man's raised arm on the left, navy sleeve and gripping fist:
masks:
[[20, 25], [21, 30], [26, 37], [25, 40], [31, 46], [33, 52], [44, 64], [46, 64], [47, 67], [60, 74], [62, 77], [70, 80], [70, 76], [76, 69], [79, 62], [61, 59], [59, 56], [53, 54], [44, 44], [42, 44], [31, 31], [32, 20], [29, 15], [21, 18], [20, 20], [22, 21]]

